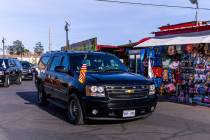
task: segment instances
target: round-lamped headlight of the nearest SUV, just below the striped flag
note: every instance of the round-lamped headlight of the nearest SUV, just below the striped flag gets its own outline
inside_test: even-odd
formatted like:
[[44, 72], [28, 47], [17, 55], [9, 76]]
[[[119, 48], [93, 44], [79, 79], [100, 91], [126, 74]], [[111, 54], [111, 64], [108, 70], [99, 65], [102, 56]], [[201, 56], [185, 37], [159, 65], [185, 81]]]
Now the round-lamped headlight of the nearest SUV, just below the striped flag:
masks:
[[86, 86], [86, 96], [105, 97], [103, 86]]

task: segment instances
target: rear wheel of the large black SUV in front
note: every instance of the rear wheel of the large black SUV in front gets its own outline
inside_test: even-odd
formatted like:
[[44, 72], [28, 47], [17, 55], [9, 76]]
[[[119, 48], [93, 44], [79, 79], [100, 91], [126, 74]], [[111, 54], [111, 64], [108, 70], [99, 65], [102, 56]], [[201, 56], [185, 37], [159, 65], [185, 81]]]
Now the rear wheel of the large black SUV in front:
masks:
[[37, 103], [39, 106], [46, 106], [48, 104], [46, 94], [41, 84], [38, 85]]

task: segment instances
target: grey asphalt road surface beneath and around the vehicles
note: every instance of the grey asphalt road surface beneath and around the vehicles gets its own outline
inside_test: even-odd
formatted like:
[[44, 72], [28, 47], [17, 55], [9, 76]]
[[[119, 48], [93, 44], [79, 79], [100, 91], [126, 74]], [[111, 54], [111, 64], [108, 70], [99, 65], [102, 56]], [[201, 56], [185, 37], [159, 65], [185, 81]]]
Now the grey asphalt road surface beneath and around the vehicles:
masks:
[[210, 108], [160, 102], [147, 119], [74, 126], [65, 111], [39, 108], [33, 82], [0, 87], [0, 140], [210, 140]]

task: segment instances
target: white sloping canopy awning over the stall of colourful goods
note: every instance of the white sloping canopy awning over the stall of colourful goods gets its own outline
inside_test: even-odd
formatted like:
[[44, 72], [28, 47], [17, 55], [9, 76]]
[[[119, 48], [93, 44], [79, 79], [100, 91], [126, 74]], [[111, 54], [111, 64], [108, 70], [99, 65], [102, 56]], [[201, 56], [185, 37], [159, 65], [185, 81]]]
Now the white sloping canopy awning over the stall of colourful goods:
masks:
[[210, 43], [210, 31], [150, 38], [134, 48]]

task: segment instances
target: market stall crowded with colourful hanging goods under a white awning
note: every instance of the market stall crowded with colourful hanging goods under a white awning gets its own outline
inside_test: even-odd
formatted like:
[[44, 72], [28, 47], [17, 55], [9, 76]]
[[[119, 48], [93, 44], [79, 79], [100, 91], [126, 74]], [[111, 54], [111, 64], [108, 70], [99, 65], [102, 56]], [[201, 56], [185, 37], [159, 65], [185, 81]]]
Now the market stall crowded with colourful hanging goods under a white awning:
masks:
[[210, 31], [157, 36], [135, 48], [137, 73], [152, 78], [160, 95], [210, 106]]

